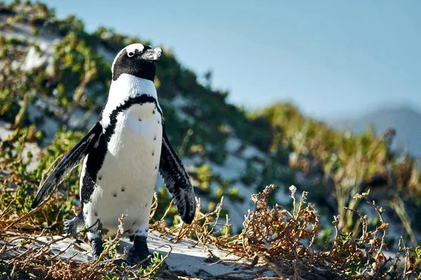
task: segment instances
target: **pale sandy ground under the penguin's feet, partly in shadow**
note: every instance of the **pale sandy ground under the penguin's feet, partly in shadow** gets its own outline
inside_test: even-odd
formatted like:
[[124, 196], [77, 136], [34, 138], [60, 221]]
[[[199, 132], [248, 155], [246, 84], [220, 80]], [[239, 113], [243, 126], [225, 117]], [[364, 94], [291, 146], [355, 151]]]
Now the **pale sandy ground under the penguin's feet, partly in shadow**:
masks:
[[[173, 236], [161, 236], [159, 232], [149, 232], [148, 246], [151, 253], [157, 251], [161, 255], [165, 256], [171, 251], [165, 262], [168, 266], [168, 270], [171, 273], [178, 275], [185, 275], [199, 278], [214, 277], [215, 279], [224, 279], [225, 276], [232, 274], [238, 279], [253, 279], [257, 278], [257, 275], [261, 277], [273, 277], [276, 276], [270, 269], [268, 270], [265, 266], [254, 266], [253, 268], [248, 267], [252, 260], [238, 260], [239, 257], [236, 255], [227, 255], [229, 252], [222, 251], [220, 248], [215, 246], [207, 245], [206, 249], [202, 248], [200, 244], [196, 244], [195, 241], [190, 239], [183, 239], [174, 243], [171, 241]], [[61, 236], [41, 236], [38, 238], [39, 241], [49, 242], [52, 239], [62, 239]], [[16, 244], [20, 243], [20, 240], [13, 241]], [[72, 259], [76, 262], [92, 261], [91, 246], [81, 242], [75, 244], [75, 240], [66, 238], [58, 241], [50, 246], [50, 251], [53, 254], [60, 254], [58, 258]], [[0, 246], [3, 246], [4, 241], [0, 240]], [[123, 253], [124, 248], [126, 250], [133, 245], [128, 239], [120, 240], [121, 248], [118, 254]], [[35, 246], [41, 246], [36, 244]], [[12, 258], [15, 255], [23, 253], [27, 248], [21, 247], [13, 251], [8, 251], [7, 254], [0, 254], [0, 258]], [[225, 276], [219, 276], [224, 274]]]

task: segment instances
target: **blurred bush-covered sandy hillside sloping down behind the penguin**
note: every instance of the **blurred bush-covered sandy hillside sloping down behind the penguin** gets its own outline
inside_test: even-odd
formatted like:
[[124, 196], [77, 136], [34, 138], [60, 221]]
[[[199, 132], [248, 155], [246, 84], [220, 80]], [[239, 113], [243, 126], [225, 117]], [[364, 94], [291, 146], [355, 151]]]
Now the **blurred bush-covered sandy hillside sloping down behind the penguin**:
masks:
[[[27, 196], [16, 211], [29, 211], [43, 171], [91, 128], [107, 97], [111, 62], [134, 42], [151, 44], [104, 27], [87, 33], [78, 18], [55, 18], [43, 4], [0, 4], [0, 119], [7, 128], [0, 137], [6, 140], [9, 134], [9, 142], [21, 141], [18, 147], [25, 142], [41, 148], [28, 156], [38, 166], [19, 171], [32, 185], [23, 188]], [[369, 211], [353, 196], [371, 189], [394, 225], [388, 244], [394, 246], [403, 235], [416, 245], [421, 225], [411, 221], [421, 217], [419, 170], [413, 156], [391, 149], [394, 131], [338, 132], [288, 103], [245, 112], [227, 103], [228, 92], [199, 83], [201, 77], [180, 65], [171, 49], [163, 49], [156, 66], [167, 134], [192, 175], [204, 211], [214, 210], [225, 196], [223, 209], [238, 231], [254, 207], [251, 194], [273, 183], [279, 187], [269, 203], [290, 205], [286, 186], [295, 185], [309, 192], [331, 236], [333, 215], [340, 215], [340, 229], [359, 230], [360, 220], [344, 207]], [[7, 147], [3, 163], [15, 153]], [[80, 168], [60, 185], [65, 207], [51, 205], [51, 215], [62, 218], [78, 205]], [[168, 205], [162, 182], [158, 187], [161, 205]], [[168, 225], [179, 222], [175, 208], [169, 217]], [[38, 222], [46, 219], [40, 216]]]

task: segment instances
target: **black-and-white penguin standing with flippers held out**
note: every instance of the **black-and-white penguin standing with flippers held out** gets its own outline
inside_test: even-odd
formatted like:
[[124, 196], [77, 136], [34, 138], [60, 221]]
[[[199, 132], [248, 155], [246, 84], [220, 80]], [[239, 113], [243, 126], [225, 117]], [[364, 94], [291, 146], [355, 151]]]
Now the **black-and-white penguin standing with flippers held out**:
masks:
[[[81, 161], [81, 212], [65, 221], [67, 234], [83, 225], [94, 258], [102, 253], [102, 237], [121, 231], [133, 241], [126, 260], [135, 264], [149, 255], [147, 234], [158, 175], [171, 194], [183, 222], [196, 211], [194, 189], [185, 167], [166, 135], [154, 77], [162, 49], [143, 44], [123, 48], [112, 62], [112, 83], [98, 120], [65, 154], [36, 193], [32, 208], [50, 196]], [[124, 215], [123, 227], [119, 218]]]

